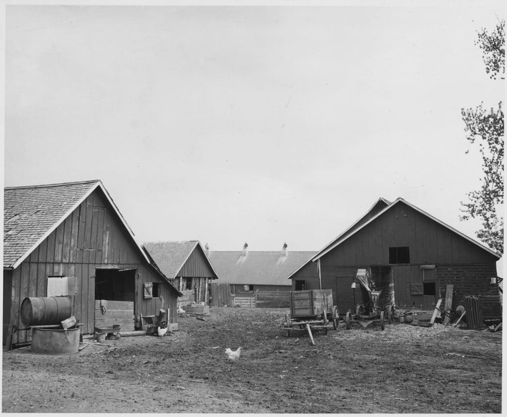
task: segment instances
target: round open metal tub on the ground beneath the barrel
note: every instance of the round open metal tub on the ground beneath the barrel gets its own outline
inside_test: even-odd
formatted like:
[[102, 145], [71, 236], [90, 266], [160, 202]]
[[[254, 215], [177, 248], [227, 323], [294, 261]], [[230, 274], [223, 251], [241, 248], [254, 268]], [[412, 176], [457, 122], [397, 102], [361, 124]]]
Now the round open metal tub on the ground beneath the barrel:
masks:
[[47, 355], [77, 353], [81, 326], [63, 330], [60, 326], [32, 327], [31, 351]]

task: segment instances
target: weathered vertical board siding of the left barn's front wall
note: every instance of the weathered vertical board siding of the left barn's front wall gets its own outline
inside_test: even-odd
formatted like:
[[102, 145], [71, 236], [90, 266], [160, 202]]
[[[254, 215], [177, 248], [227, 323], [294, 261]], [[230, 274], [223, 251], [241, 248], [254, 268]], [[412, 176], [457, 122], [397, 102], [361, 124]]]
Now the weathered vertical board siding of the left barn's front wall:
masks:
[[[83, 247], [86, 249], [80, 249]], [[48, 276], [68, 275], [76, 276], [78, 282], [78, 294], [71, 297], [73, 314], [84, 324], [82, 332], [92, 333], [96, 267], [138, 269], [138, 287], [142, 287], [144, 282], [162, 281], [162, 277], [147, 265], [146, 259], [100, 190], [95, 190], [85, 203], [12, 271], [11, 323], [18, 328], [22, 327], [19, 310], [25, 297], [47, 296]], [[143, 300], [142, 288], [137, 290], [136, 308], [143, 315], [158, 314], [161, 307], [169, 307], [171, 318], [176, 322], [176, 295], [168, 284], [164, 282], [161, 291], [164, 305], [158, 298]], [[19, 331], [13, 336], [13, 343], [29, 340], [30, 332], [27, 331]]]

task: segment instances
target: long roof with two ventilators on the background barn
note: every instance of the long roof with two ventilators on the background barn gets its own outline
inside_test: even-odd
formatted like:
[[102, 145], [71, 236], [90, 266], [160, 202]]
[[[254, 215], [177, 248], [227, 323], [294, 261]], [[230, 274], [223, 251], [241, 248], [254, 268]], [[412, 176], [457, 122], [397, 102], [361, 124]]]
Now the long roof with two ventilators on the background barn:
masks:
[[290, 285], [287, 275], [306, 263], [315, 252], [211, 252], [208, 257], [219, 274], [219, 282], [242, 285]]

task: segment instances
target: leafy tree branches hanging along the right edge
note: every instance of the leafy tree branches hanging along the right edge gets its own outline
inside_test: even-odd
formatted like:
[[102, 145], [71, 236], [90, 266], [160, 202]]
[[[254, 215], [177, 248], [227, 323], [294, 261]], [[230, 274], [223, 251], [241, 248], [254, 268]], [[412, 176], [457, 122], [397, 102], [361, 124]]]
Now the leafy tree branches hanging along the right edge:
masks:
[[[488, 33], [486, 29], [478, 32], [476, 45], [483, 51], [486, 73], [490, 78], [504, 79], [505, 74], [505, 21], [500, 21], [495, 30]], [[498, 109], [489, 111], [483, 103], [476, 109], [461, 109], [465, 122], [466, 139], [470, 143], [476, 140], [482, 155], [484, 177], [480, 190], [467, 193], [468, 202], [463, 203], [461, 220], [470, 217], [479, 218], [482, 229], [476, 232], [479, 239], [496, 252], [503, 253], [503, 217], [497, 214], [503, 205], [503, 111], [502, 102]], [[466, 151], [468, 153], [468, 151]]]

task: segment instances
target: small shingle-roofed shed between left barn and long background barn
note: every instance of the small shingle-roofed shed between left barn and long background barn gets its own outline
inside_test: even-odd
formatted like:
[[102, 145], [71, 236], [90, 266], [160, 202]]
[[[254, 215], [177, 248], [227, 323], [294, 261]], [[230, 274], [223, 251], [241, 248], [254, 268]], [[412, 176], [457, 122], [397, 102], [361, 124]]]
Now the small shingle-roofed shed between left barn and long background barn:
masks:
[[178, 305], [208, 304], [211, 281], [218, 276], [198, 240], [144, 242], [142, 246], [183, 294]]

